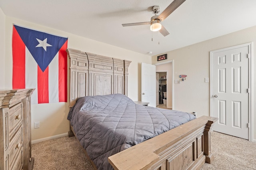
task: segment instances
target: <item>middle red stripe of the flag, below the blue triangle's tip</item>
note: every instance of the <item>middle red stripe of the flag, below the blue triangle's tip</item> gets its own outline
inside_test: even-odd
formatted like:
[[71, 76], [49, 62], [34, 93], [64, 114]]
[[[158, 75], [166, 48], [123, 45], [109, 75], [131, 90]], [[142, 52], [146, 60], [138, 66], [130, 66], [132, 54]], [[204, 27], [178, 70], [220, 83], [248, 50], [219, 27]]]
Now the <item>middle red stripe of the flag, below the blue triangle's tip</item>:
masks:
[[49, 66], [42, 72], [38, 66], [37, 87], [38, 87], [38, 103], [49, 103], [49, 86], [48, 75]]

